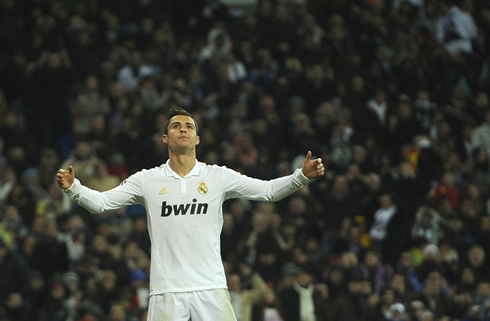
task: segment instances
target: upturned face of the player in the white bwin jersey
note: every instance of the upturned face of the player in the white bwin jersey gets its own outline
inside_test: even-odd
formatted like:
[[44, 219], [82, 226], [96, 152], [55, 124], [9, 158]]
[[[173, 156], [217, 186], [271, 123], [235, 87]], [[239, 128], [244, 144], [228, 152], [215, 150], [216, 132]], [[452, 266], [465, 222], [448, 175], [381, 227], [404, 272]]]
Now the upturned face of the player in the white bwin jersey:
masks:
[[193, 149], [199, 144], [200, 138], [197, 136], [194, 120], [189, 116], [177, 115], [170, 120], [168, 134], [164, 134], [162, 140], [170, 149]]

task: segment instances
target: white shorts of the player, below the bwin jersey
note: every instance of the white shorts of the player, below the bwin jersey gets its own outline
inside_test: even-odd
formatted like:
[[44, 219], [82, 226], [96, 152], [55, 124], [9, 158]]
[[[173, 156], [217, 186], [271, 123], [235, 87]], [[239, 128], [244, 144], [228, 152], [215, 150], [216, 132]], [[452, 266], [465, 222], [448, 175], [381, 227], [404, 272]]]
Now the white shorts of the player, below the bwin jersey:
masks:
[[228, 289], [152, 295], [147, 321], [236, 321]]

